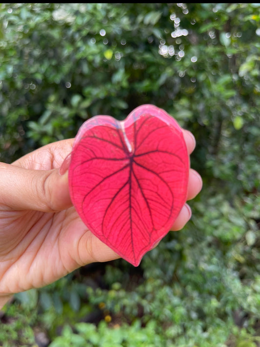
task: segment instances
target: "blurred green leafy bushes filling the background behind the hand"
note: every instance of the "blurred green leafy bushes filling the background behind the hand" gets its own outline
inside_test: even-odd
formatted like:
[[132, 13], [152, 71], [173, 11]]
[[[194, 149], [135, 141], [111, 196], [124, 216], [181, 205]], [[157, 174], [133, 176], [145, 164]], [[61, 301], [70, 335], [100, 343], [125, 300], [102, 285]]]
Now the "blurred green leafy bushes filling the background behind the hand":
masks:
[[152, 103], [193, 132], [193, 217], [139, 267], [16, 294], [4, 347], [260, 346], [260, 4], [0, 4], [0, 161]]

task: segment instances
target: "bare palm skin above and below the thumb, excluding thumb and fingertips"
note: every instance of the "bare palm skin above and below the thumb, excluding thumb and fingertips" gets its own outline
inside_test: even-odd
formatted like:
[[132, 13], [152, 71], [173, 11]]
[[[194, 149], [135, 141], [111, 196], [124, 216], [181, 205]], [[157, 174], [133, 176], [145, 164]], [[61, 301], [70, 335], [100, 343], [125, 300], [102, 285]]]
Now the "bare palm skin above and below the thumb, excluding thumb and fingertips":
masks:
[[[54, 143], [14, 164], [31, 169], [59, 168], [71, 148], [71, 140]], [[0, 230], [0, 292], [44, 286], [87, 262], [102, 261], [102, 254], [110, 252], [111, 258], [117, 257], [86, 228], [73, 206], [56, 213], [5, 209], [0, 211]], [[80, 249], [84, 247], [85, 254]], [[97, 259], [96, 248], [100, 250]]]

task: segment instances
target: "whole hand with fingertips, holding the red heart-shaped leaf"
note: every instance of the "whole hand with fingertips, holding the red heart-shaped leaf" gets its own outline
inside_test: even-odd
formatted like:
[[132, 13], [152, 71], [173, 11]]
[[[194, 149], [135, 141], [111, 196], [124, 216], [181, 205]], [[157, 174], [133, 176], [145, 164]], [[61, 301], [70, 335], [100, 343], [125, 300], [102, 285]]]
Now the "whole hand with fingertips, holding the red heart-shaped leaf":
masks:
[[[189, 131], [183, 135], [191, 154], [195, 139]], [[64, 159], [73, 142], [50, 143], [12, 164], [0, 163], [0, 306], [13, 293], [46, 286], [82, 265], [119, 258], [88, 230], [71, 203]], [[187, 200], [201, 187], [200, 175], [190, 169]], [[172, 230], [190, 217], [185, 204]]]

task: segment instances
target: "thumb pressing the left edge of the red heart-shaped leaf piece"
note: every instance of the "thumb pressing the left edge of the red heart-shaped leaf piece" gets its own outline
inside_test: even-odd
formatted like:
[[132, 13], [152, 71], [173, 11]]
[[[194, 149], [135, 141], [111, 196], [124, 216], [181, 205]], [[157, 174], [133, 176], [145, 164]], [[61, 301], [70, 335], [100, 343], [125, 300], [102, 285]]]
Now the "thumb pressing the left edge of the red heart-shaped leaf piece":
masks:
[[0, 209], [56, 212], [72, 206], [68, 171], [31, 170], [0, 163]]

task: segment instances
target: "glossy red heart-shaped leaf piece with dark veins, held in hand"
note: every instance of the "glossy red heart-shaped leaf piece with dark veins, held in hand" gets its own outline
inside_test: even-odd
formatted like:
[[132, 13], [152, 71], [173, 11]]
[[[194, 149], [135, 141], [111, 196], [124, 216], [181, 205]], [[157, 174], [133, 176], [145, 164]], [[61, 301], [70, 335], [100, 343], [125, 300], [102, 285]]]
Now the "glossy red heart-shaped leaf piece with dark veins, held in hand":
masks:
[[189, 157], [179, 124], [154, 105], [124, 121], [95, 116], [76, 136], [72, 202], [102, 242], [137, 266], [170, 230], [186, 201]]

